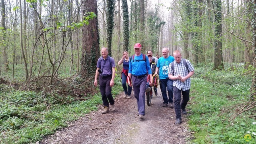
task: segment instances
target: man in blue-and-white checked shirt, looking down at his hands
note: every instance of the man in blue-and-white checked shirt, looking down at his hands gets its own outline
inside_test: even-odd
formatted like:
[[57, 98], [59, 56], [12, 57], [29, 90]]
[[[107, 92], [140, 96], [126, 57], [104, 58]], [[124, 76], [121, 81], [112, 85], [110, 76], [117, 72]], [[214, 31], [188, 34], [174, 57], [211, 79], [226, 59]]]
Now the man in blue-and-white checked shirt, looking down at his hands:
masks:
[[[194, 74], [194, 67], [189, 60], [186, 60], [186, 63], [188, 65], [188, 68], [186, 68], [179, 50], [175, 50], [173, 52], [173, 56], [175, 59], [174, 66], [172, 69], [171, 64], [169, 65], [168, 77], [169, 79], [173, 80], [174, 109], [176, 113], [175, 125], [180, 125], [182, 123], [181, 112], [182, 114], [187, 114], [185, 107], [189, 100], [189, 92], [191, 86], [190, 77]], [[183, 100], [180, 103], [181, 92]]]

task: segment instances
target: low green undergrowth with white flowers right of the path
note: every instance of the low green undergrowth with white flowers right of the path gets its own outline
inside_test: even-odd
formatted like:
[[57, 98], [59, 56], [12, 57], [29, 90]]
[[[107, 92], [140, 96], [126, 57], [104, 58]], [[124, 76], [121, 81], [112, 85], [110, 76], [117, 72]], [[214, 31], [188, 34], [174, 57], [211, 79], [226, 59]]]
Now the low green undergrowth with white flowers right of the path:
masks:
[[[189, 130], [196, 137], [194, 143], [254, 144], [256, 122], [250, 116], [255, 108], [236, 116], [232, 107], [249, 103], [250, 76], [242, 75], [242, 67], [234, 71], [205, 71], [196, 68], [191, 86], [191, 115]], [[244, 136], [252, 139], [246, 142]]]

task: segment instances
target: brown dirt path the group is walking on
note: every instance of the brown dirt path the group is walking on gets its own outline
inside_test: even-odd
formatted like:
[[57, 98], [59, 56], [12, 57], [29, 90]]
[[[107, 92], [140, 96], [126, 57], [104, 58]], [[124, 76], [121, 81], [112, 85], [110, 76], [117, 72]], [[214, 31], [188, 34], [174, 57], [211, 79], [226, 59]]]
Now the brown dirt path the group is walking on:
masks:
[[192, 134], [188, 131], [186, 116], [182, 124], [174, 124], [174, 108], [162, 107], [162, 94], [153, 94], [151, 105], [146, 104], [144, 119], [136, 116], [137, 102], [132, 98], [116, 96], [117, 110], [102, 114], [102, 105], [70, 122], [67, 128], [45, 137], [37, 144], [189, 144]]

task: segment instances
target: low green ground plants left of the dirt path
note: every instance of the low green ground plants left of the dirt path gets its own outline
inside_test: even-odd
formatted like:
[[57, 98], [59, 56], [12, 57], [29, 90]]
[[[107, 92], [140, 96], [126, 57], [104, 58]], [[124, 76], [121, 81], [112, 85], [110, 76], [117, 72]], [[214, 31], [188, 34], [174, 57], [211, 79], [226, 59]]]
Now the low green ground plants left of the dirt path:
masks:
[[[75, 80], [80, 82], [80, 78]], [[81, 86], [77, 88], [79, 90]], [[16, 90], [9, 85], [0, 84], [0, 141], [1, 143], [28, 144], [54, 134], [68, 122], [77, 120], [102, 104], [100, 93], [87, 94], [84, 101], [72, 96], [52, 92], [32, 92]], [[115, 79], [112, 94], [122, 92], [120, 76]]]

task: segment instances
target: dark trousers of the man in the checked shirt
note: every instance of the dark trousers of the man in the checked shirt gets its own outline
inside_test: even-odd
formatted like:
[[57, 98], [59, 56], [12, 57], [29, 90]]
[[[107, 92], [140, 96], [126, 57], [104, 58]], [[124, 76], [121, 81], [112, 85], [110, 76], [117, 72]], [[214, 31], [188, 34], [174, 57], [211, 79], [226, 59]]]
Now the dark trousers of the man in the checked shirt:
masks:
[[[183, 100], [181, 101], [181, 93], [182, 92], [182, 97]], [[185, 90], [182, 91], [179, 90], [176, 86], [173, 87], [173, 95], [174, 95], [174, 110], [175, 110], [175, 114], [176, 114], [176, 119], [180, 118], [181, 119], [181, 111], [180, 109], [185, 109], [186, 105], [188, 104], [188, 100], [189, 100], [189, 90]]]

